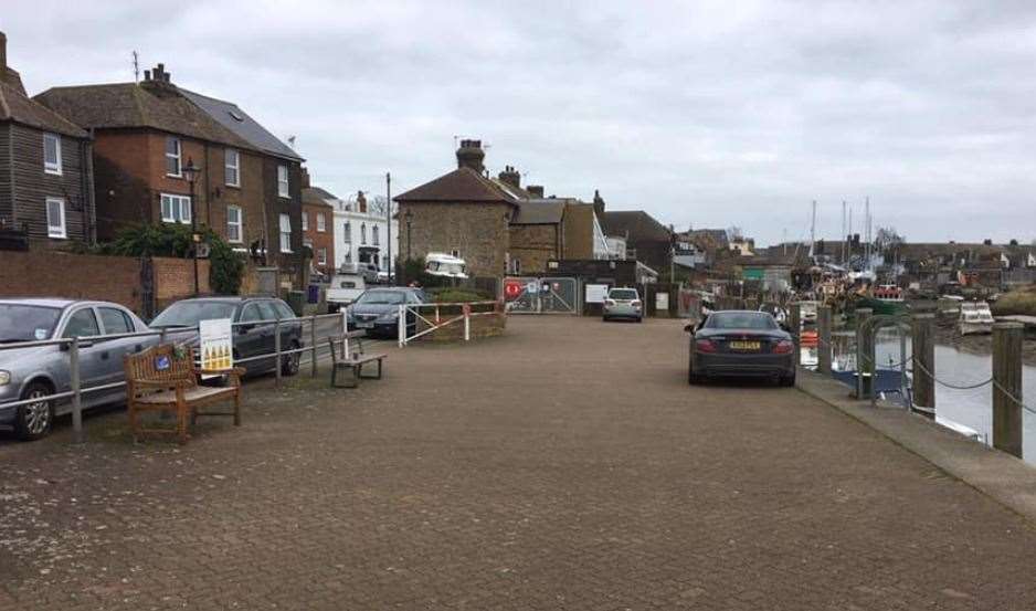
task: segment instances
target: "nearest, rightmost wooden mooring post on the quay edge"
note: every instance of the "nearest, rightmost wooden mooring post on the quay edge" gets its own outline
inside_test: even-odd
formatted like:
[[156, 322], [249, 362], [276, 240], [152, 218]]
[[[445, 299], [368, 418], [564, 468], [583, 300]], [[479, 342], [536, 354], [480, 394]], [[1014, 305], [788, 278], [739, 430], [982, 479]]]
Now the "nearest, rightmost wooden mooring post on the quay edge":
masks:
[[993, 447], [1022, 457], [1022, 323], [993, 324]]

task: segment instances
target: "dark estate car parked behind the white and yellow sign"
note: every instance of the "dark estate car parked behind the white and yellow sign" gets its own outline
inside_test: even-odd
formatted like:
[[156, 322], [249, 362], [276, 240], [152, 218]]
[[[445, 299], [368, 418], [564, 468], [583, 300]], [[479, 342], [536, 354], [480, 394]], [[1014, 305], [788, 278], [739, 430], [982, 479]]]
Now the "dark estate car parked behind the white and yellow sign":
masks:
[[[276, 339], [273, 324], [258, 324], [262, 320], [284, 320], [281, 324], [281, 349], [302, 348], [303, 325], [288, 304], [272, 297], [195, 297], [182, 299], [170, 305], [151, 320], [152, 329], [177, 329], [197, 327], [202, 320], [230, 318], [234, 326], [234, 365], [244, 367], [249, 375], [264, 373], [277, 367], [273, 356]], [[198, 346], [198, 334], [171, 335], [177, 344]], [[265, 358], [255, 358], [269, 355]], [[254, 360], [243, 360], [253, 359]], [[281, 357], [281, 372], [294, 376], [298, 372], [299, 354], [293, 352]]]

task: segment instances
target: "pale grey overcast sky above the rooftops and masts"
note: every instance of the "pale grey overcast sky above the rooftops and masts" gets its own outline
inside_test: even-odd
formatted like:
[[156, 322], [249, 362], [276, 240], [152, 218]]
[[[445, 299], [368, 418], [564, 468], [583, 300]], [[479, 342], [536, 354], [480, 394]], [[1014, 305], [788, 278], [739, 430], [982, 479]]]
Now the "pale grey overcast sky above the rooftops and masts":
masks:
[[1036, 2], [6, 0], [0, 30], [31, 94], [131, 81], [136, 50], [340, 197], [461, 136], [677, 229], [801, 239], [816, 199], [835, 238], [869, 196], [911, 241], [1036, 239]]

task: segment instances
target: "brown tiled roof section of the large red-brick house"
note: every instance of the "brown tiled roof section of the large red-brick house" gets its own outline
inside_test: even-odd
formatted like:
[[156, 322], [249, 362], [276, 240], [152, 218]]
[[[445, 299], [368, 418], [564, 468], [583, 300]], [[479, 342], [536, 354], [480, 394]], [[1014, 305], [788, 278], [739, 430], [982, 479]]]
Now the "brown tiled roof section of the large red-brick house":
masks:
[[199, 140], [262, 150], [223, 127], [173, 85], [149, 82], [53, 87], [33, 99], [86, 128], [150, 127]]

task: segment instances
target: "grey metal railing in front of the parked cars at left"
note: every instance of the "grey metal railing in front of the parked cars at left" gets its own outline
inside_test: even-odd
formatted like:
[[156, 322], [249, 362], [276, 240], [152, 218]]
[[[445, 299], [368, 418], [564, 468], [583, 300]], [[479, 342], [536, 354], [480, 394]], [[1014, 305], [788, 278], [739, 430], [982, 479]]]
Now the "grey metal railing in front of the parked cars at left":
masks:
[[[323, 343], [317, 340], [317, 324], [320, 320], [334, 320], [338, 323], [338, 325], [335, 328], [330, 329], [334, 333], [329, 335], [342, 336], [343, 343], [347, 343], [350, 337], [361, 338], [366, 335], [362, 331], [349, 333], [348, 322], [347, 322], [345, 310], [339, 314], [323, 314], [323, 315], [314, 315], [314, 316], [300, 316], [297, 318], [274, 318], [274, 319], [266, 319], [266, 320], [249, 320], [249, 322], [233, 323], [231, 325], [232, 328], [244, 328], [244, 327], [255, 328], [255, 327], [264, 327], [264, 326], [274, 327], [274, 350], [272, 352], [261, 352], [261, 354], [252, 355], [245, 358], [235, 358], [233, 362], [234, 365], [241, 365], [241, 364], [258, 361], [262, 359], [272, 359], [274, 361], [273, 369], [276, 376], [276, 384], [279, 387], [282, 376], [283, 376], [283, 371], [282, 371], [283, 358], [285, 356], [290, 356], [290, 355], [296, 355], [296, 354], [304, 355], [308, 357], [308, 360], [306, 361], [306, 364], [310, 366], [310, 375], [316, 377], [319, 360], [323, 358], [330, 358], [329, 346], [321, 347], [320, 345]], [[304, 335], [305, 335], [304, 329], [307, 324], [309, 325], [309, 345], [308, 346], [305, 345], [305, 338], [304, 338]], [[284, 349], [284, 346], [282, 346], [281, 336], [282, 336], [282, 329], [285, 326], [302, 327], [302, 329], [299, 330], [299, 346], [297, 348]], [[95, 392], [102, 392], [106, 390], [120, 389], [120, 388], [126, 387], [125, 380], [119, 381], [119, 382], [110, 382], [110, 383], [93, 384], [93, 386], [84, 387], [82, 378], [81, 378], [81, 373], [82, 373], [82, 368], [80, 364], [81, 356], [82, 356], [81, 350], [83, 350], [84, 348], [93, 347], [95, 344], [98, 344], [98, 343], [112, 341], [116, 339], [128, 339], [128, 338], [134, 338], [134, 337], [139, 337], [139, 338], [156, 338], [157, 337], [158, 338], [157, 344], [165, 344], [169, 341], [171, 338], [173, 338], [175, 344], [182, 346], [186, 344], [193, 343], [197, 339], [198, 334], [199, 334], [198, 326], [167, 327], [162, 329], [152, 329], [152, 330], [146, 330], [146, 331], [94, 335], [94, 336], [78, 336], [78, 337], [62, 337], [62, 338], [55, 338], [55, 339], [41, 339], [41, 340], [33, 340], [33, 341], [0, 344], [0, 351], [21, 350], [25, 348], [36, 348], [36, 347], [44, 347], [44, 346], [57, 346], [60, 349], [63, 349], [63, 351], [66, 351], [68, 355], [67, 357], [68, 358], [68, 383], [67, 383], [68, 388], [67, 390], [64, 390], [63, 388], [56, 388], [56, 383], [52, 383], [52, 386], [54, 386], [55, 388], [54, 388], [54, 392], [51, 392], [50, 394], [45, 394], [42, 397], [34, 397], [30, 399], [17, 399], [13, 401], [3, 401], [3, 402], [0, 402], [0, 409], [18, 408], [18, 407], [29, 405], [32, 403], [39, 403], [43, 401], [54, 402], [54, 401], [71, 400], [72, 424], [73, 424], [73, 430], [74, 430], [74, 436], [75, 436], [75, 441], [80, 443], [83, 441], [83, 396], [95, 393]], [[177, 336], [184, 336], [184, 335], [189, 335], [190, 337], [182, 339], [182, 340], [175, 339]], [[235, 334], [233, 336], [234, 340], [236, 340], [237, 337], [239, 336]], [[325, 338], [326, 337], [321, 339], [325, 339]], [[235, 345], [236, 345], [236, 341], [235, 341]], [[66, 346], [67, 346], [67, 349], [64, 349], [64, 347]], [[141, 350], [150, 348], [151, 346], [152, 345], [148, 345], [147, 347], [141, 347]], [[321, 356], [321, 351], [324, 352], [323, 356]], [[195, 362], [198, 362], [197, 359], [195, 359]], [[300, 356], [299, 367], [302, 367], [303, 364], [304, 364], [303, 357]]]

